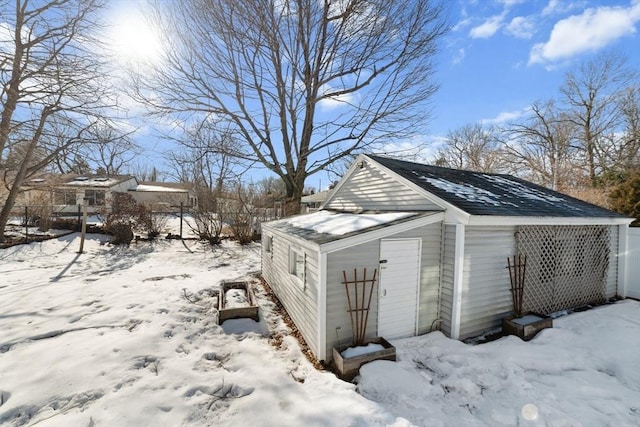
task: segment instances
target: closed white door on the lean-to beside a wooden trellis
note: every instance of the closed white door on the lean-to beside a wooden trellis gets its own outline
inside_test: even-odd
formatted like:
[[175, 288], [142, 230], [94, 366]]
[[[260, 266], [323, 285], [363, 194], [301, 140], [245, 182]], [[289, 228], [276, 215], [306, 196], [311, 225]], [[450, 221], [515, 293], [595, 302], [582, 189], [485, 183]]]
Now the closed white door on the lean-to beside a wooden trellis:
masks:
[[378, 335], [387, 339], [416, 334], [420, 239], [380, 242]]

